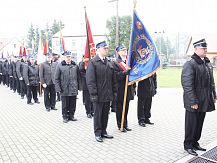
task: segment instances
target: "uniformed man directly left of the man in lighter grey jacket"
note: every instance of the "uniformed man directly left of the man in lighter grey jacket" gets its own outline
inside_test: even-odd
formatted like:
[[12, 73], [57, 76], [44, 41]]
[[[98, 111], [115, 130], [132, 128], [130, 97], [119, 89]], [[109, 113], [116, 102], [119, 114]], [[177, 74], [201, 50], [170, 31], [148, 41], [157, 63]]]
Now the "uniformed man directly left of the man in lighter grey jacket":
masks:
[[37, 97], [38, 83], [39, 83], [39, 68], [35, 63], [34, 56], [29, 57], [28, 65], [26, 65], [23, 69], [23, 78], [27, 85], [27, 104], [33, 105], [32, 97], [35, 103], [39, 104]]

